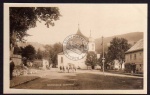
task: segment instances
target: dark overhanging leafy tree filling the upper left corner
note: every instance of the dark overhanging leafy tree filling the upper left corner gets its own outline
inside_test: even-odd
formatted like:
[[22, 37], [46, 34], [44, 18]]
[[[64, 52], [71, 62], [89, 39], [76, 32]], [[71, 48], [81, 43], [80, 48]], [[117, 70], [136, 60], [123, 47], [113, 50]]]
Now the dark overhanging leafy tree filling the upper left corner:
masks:
[[54, 26], [61, 16], [58, 7], [10, 7], [10, 51], [13, 53], [17, 41], [24, 42], [26, 31], [36, 27], [36, 22]]

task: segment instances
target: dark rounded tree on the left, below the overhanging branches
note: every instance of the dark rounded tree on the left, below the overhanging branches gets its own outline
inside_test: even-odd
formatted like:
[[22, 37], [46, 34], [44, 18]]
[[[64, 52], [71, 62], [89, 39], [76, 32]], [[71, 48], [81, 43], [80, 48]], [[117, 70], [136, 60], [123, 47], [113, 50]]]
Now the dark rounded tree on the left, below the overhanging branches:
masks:
[[35, 53], [35, 48], [32, 45], [28, 45], [22, 50], [22, 57], [26, 57], [28, 60], [33, 60]]

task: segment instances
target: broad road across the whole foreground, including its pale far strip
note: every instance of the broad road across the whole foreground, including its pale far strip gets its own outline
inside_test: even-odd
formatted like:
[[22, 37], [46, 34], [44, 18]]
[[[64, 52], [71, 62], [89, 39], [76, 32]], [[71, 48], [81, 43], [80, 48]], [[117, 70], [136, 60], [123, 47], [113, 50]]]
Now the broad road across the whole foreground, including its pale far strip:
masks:
[[[143, 78], [137, 76], [104, 73], [98, 70], [78, 70], [64, 73], [58, 69], [39, 70], [39, 79], [16, 86], [19, 89], [141, 89]], [[118, 81], [116, 81], [118, 80]], [[115, 87], [115, 86], [116, 87]]]

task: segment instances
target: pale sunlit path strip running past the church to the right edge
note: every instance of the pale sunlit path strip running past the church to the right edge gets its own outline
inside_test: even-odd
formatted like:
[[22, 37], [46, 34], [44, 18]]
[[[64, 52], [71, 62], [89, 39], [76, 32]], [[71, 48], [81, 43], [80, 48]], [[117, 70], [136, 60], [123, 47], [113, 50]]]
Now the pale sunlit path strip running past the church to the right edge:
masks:
[[[34, 76], [38, 77], [46, 77], [51, 76], [49, 78], [51, 79], [62, 79], [65, 78], [64, 76], [76, 76], [78, 73], [91, 73], [91, 74], [99, 74], [99, 75], [105, 75], [105, 76], [119, 76], [119, 77], [129, 77], [129, 78], [143, 78], [139, 76], [132, 76], [132, 75], [123, 75], [123, 74], [114, 74], [114, 73], [108, 73], [108, 72], [100, 72], [99, 70], [77, 70], [75, 73], [60, 73], [58, 68], [51, 68], [51, 70], [38, 70], [37, 74], [33, 74]], [[53, 72], [53, 73], [52, 73]], [[57, 74], [56, 74], [57, 73]], [[33, 76], [32, 74], [28, 76]]]

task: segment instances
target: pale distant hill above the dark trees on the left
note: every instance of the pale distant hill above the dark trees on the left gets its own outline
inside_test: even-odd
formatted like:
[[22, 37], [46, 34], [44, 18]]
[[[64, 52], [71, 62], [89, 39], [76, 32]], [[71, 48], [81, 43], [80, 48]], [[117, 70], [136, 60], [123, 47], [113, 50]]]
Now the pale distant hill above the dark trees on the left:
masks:
[[27, 45], [32, 45], [32, 46], [35, 48], [35, 50], [38, 50], [38, 49], [40, 49], [40, 50], [45, 50], [44, 45], [43, 45], [43, 44], [40, 44], [40, 43], [38, 43], [38, 42], [18, 43], [18, 46], [19, 46], [19, 47], [25, 47], [25, 46], [27, 46]]

